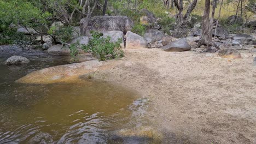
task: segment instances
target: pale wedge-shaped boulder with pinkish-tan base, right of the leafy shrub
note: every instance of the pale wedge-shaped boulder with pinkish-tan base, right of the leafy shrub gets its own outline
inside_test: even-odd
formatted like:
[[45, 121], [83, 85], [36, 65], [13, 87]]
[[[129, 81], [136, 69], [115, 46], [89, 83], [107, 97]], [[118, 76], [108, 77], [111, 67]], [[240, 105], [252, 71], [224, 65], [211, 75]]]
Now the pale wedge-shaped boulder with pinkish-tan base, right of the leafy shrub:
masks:
[[147, 41], [140, 35], [128, 31], [126, 33], [126, 48], [136, 49], [139, 47], [148, 47]]

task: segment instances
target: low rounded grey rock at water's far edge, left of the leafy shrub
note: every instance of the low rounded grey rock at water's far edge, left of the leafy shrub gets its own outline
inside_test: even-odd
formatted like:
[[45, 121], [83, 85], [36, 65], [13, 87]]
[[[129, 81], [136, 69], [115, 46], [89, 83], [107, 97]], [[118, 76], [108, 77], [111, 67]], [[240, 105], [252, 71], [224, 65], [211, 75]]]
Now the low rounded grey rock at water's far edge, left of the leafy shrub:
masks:
[[62, 47], [61, 44], [57, 44], [57, 45], [49, 47], [49, 49], [46, 50], [46, 52], [51, 55], [65, 56], [65, 55], [69, 55], [70, 49], [67, 46]]

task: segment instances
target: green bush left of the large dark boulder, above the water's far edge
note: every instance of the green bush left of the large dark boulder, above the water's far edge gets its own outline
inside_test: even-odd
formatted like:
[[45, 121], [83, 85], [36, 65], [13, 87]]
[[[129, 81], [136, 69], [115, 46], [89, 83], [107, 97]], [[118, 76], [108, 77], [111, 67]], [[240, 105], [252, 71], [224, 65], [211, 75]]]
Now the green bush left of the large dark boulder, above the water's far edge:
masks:
[[67, 43], [72, 40], [73, 31], [72, 26], [53, 26], [49, 29], [48, 33], [54, 35], [56, 40]]

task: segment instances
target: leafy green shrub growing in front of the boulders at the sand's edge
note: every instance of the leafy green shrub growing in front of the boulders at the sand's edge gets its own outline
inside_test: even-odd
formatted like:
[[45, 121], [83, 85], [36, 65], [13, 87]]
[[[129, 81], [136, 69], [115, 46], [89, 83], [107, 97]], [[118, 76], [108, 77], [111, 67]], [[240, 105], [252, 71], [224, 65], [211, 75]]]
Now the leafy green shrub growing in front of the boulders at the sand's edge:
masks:
[[110, 41], [110, 37], [103, 38], [102, 33], [92, 31], [92, 39], [88, 45], [82, 45], [82, 49], [86, 52], [92, 53], [100, 61], [107, 59], [121, 58], [124, 56], [123, 50], [121, 50], [122, 39], [117, 42]]

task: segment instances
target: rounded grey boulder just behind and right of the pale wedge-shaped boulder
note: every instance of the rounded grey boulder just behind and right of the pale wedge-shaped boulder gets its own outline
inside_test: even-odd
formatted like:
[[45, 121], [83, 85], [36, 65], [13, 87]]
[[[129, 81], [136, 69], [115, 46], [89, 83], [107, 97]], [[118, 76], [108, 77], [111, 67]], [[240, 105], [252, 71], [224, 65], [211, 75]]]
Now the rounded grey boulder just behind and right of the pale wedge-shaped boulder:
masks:
[[164, 33], [155, 29], [149, 29], [149, 31], [144, 34], [144, 38], [148, 43], [154, 43], [155, 41], [161, 40], [163, 37]]

